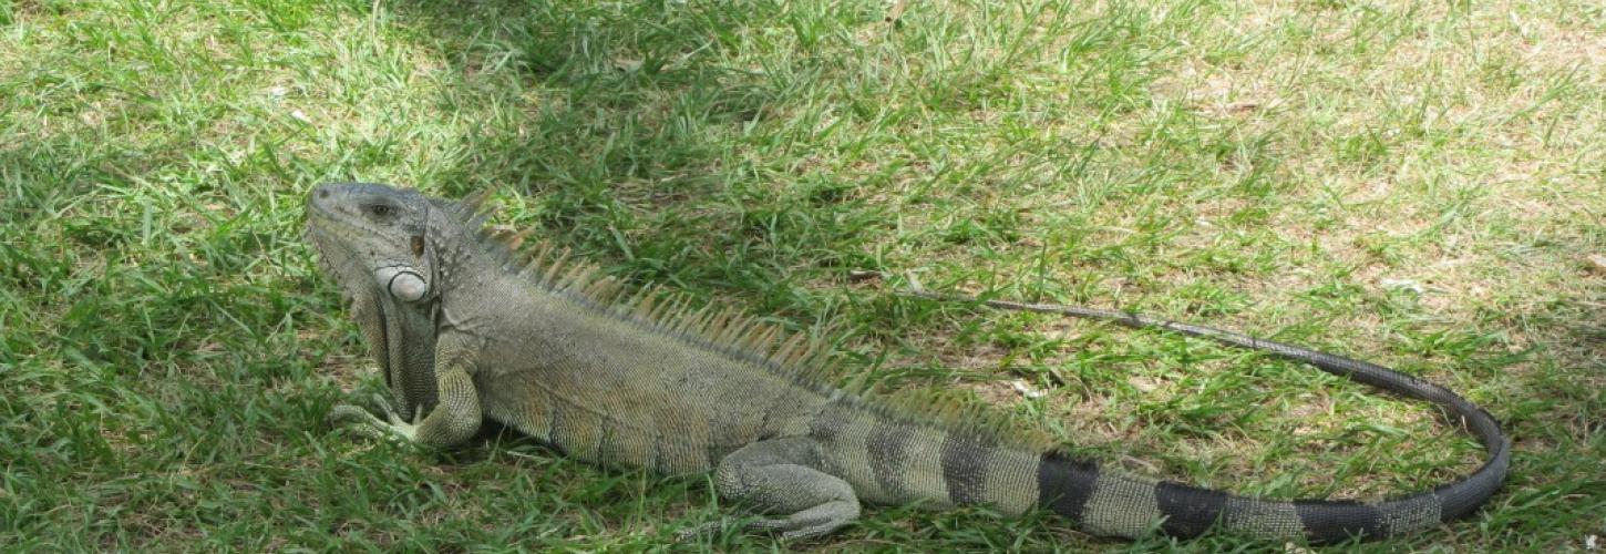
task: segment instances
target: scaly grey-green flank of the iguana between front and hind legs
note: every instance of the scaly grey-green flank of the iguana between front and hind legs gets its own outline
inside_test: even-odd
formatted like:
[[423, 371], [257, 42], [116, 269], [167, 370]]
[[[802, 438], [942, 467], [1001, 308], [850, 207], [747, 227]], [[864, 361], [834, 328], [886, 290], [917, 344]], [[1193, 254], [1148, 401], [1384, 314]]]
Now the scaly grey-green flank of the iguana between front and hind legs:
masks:
[[490, 331], [504, 347], [480, 350], [480, 406], [575, 458], [707, 472], [829, 400], [768, 358], [527, 283], [498, 295], [520, 323]]

